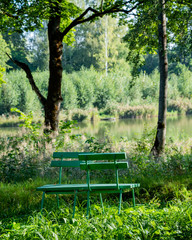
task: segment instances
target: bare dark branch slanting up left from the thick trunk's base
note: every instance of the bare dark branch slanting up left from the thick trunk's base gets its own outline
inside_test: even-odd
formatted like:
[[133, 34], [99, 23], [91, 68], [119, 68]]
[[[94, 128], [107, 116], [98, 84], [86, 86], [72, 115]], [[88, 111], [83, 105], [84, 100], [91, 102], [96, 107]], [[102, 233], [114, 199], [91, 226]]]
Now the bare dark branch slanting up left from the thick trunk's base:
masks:
[[29, 79], [29, 83], [31, 84], [32, 89], [33, 89], [33, 90], [35, 91], [35, 93], [37, 94], [37, 97], [39, 98], [41, 104], [42, 104], [43, 106], [45, 106], [47, 100], [46, 100], [46, 98], [41, 94], [39, 88], [38, 88], [37, 85], [35, 84], [35, 81], [34, 81], [34, 79], [33, 79], [33, 76], [32, 76], [32, 74], [31, 74], [31, 70], [29, 69], [29, 66], [28, 66], [26, 63], [22, 63], [22, 62], [19, 62], [19, 61], [17, 61], [17, 60], [13, 60], [13, 59], [9, 56], [8, 53], [6, 53], [6, 54], [7, 54], [7, 56], [9, 57], [9, 59], [10, 59], [13, 63], [15, 63], [18, 67], [22, 68], [22, 69], [25, 71], [26, 76], [27, 76], [27, 78]]

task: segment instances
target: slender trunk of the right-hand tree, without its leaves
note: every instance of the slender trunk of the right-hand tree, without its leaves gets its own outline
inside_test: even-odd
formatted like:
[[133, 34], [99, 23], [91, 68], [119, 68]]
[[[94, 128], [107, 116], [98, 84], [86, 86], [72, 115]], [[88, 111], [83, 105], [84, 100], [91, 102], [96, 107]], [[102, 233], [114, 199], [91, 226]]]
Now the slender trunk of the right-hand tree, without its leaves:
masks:
[[161, 12], [159, 14], [159, 112], [157, 123], [157, 134], [151, 153], [159, 156], [163, 153], [166, 139], [166, 112], [167, 112], [167, 83], [168, 83], [168, 59], [167, 59], [167, 36], [166, 36], [166, 14], [165, 0], [159, 0]]

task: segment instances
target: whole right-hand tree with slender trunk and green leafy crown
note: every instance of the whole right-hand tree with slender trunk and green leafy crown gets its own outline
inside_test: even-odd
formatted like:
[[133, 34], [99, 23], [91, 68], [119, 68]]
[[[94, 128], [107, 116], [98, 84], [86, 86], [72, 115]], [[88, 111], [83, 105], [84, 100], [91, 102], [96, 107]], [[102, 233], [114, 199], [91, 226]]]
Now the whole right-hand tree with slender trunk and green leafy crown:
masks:
[[[165, 147], [168, 82], [167, 40], [171, 44], [176, 44], [186, 36], [186, 26], [192, 20], [190, 6], [189, 0], [146, 1], [137, 9], [136, 18], [130, 24], [130, 31], [125, 37], [125, 40], [129, 40], [130, 54], [128, 57], [134, 63], [134, 73], [143, 64], [141, 61], [143, 54], [155, 53], [158, 50], [159, 112], [156, 138], [151, 150], [155, 156], [161, 155]], [[166, 18], [168, 19], [168, 31]]]

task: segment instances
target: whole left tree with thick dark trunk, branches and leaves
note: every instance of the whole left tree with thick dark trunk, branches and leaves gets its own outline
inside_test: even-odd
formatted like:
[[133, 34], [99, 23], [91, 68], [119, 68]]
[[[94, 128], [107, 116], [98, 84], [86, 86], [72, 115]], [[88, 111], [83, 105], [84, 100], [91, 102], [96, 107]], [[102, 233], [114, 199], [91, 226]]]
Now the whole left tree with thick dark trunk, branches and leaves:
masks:
[[[87, 1], [89, 3], [89, 1]], [[92, 1], [90, 1], [92, 2]], [[85, 22], [94, 21], [107, 14], [130, 14], [144, 1], [136, 0], [106, 0], [97, 6], [93, 4], [82, 10], [73, 1], [68, 0], [3, 0], [0, 3], [0, 26], [11, 31], [34, 31], [42, 26], [42, 21], [48, 21], [49, 41], [49, 85], [48, 95], [44, 97], [35, 84], [29, 66], [26, 63], [12, 59], [27, 75], [45, 112], [45, 126], [48, 130], [58, 128], [62, 80], [63, 41], [69, 42], [73, 37], [74, 27]]]

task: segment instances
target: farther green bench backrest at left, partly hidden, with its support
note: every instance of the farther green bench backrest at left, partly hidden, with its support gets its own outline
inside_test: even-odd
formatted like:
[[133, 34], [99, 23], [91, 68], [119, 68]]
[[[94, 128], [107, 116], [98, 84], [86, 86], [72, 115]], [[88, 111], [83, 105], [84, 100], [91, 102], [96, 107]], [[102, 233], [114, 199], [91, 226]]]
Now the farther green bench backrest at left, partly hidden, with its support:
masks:
[[[62, 168], [63, 167], [80, 167], [81, 161], [78, 159], [78, 155], [84, 152], [54, 152], [53, 158], [57, 159], [51, 161], [51, 167], [59, 167], [59, 184], [61, 184]], [[59, 159], [59, 161], [58, 161]], [[72, 160], [70, 160], [72, 159]]]

